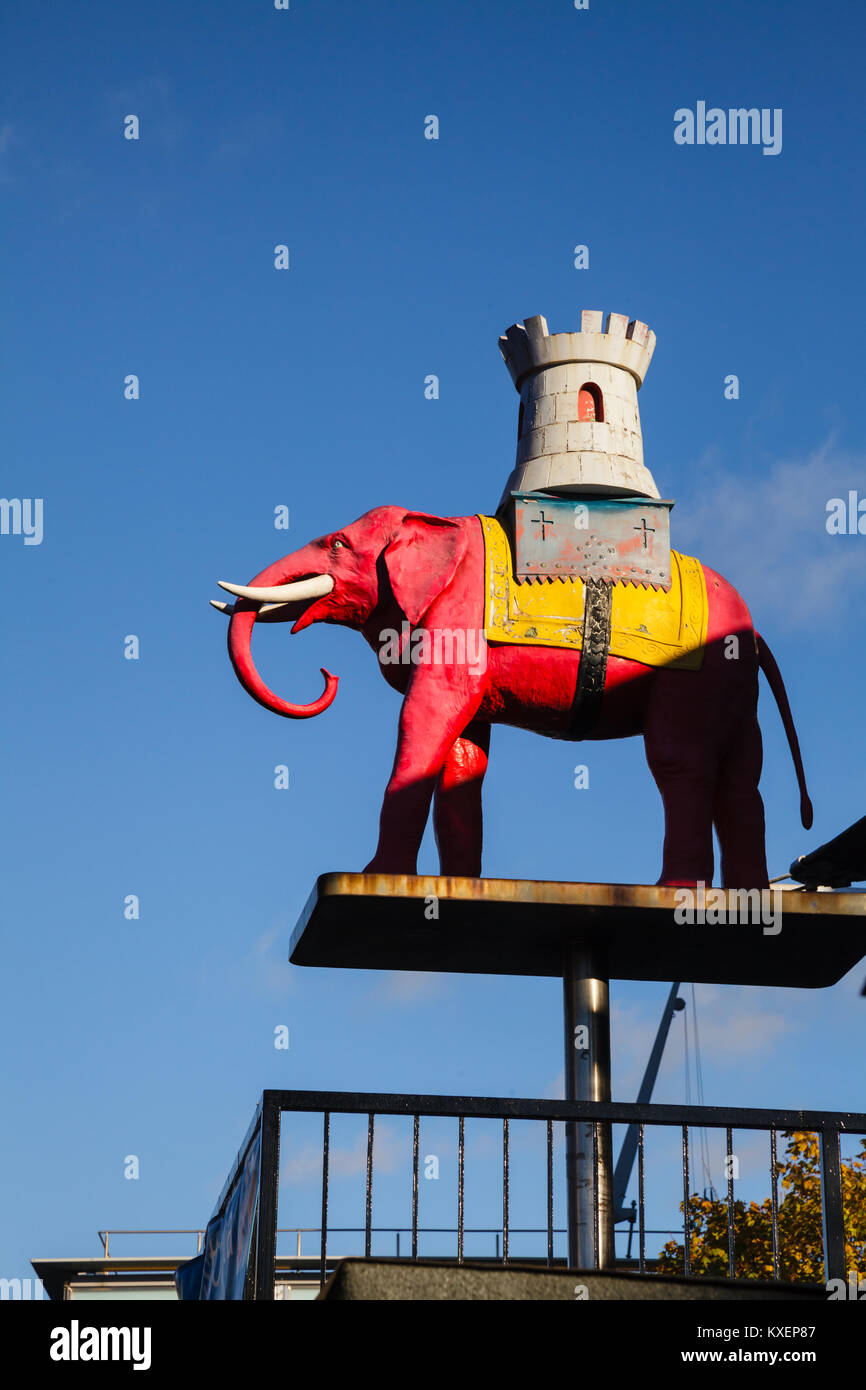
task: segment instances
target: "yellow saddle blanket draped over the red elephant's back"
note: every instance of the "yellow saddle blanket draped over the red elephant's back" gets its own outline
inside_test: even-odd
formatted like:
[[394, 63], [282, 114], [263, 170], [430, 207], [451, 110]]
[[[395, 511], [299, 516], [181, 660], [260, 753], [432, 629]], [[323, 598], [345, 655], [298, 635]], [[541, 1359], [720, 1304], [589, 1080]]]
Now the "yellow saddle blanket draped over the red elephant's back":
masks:
[[[484, 531], [484, 635], [512, 646], [569, 646], [584, 641], [584, 581], [518, 582], [512, 546], [495, 517], [480, 516]], [[696, 671], [706, 642], [706, 581], [698, 560], [670, 552], [669, 591], [624, 581], [613, 585], [610, 655], [644, 666]]]

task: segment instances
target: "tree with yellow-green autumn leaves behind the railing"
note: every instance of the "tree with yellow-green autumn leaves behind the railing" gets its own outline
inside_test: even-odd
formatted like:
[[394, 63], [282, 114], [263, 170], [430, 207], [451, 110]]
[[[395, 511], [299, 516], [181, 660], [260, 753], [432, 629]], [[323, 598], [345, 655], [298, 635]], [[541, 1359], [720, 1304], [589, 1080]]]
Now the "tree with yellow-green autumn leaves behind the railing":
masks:
[[[816, 1134], [785, 1130], [778, 1161], [778, 1272], [790, 1283], [824, 1283], [822, 1238], [820, 1148]], [[845, 1269], [866, 1275], [866, 1138], [842, 1163]], [[683, 1202], [680, 1202], [683, 1211]], [[727, 1201], [694, 1193], [688, 1198], [692, 1275], [728, 1272]], [[773, 1279], [771, 1202], [734, 1201], [734, 1272], [740, 1279]], [[659, 1273], [683, 1273], [683, 1243], [669, 1240], [659, 1255]]]

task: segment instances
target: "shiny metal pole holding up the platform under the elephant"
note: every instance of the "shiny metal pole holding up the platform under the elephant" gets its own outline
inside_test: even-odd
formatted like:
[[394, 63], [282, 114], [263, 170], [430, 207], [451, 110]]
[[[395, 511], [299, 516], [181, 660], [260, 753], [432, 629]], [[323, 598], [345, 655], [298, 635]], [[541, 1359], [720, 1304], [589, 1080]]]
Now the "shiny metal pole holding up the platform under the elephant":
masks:
[[[605, 960], [592, 945], [566, 948], [563, 962], [566, 1099], [610, 1099], [610, 1002]], [[613, 1247], [610, 1125], [566, 1125], [569, 1265], [607, 1269]]]

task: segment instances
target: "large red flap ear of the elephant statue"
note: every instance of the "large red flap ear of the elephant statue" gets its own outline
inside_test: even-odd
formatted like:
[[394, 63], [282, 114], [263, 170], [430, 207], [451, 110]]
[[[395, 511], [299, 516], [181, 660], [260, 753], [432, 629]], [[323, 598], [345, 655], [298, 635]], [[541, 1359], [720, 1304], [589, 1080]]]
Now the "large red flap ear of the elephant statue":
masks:
[[466, 530], [459, 521], [423, 512], [407, 512], [403, 517], [384, 559], [393, 596], [413, 627], [453, 580], [466, 543]]

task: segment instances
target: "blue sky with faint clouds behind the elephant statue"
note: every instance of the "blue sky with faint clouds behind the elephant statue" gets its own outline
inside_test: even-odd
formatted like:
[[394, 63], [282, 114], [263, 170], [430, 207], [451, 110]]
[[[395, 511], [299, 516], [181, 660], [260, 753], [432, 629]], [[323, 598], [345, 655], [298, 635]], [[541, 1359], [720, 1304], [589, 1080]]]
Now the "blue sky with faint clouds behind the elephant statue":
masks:
[[[14, 3], [3, 29], [1, 492], [44, 505], [40, 545], [0, 537], [14, 1276], [95, 1254], [99, 1226], [203, 1225], [264, 1086], [559, 1094], [556, 981], [288, 966], [316, 874], [373, 852], [399, 701], [356, 634], [267, 630], [286, 696], [317, 694], [320, 664], [342, 678], [327, 716], [279, 720], [236, 684], [207, 606], [217, 578], [377, 503], [492, 510], [513, 321], [602, 309], [656, 331], [639, 403], [674, 545], [745, 595], [803, 746], [809, 834], [765, 685], [771, 872], [863, 815], [866, 537], [824, 525], [830, 498], [866, 496], [863, 17]], [[781, 153], [676, 145], [674, 111], [699, 100], [781, 108]], [[638, 741], [496, 730], [485, 796], [487, 874], [657, 876]], [[706, 1101], [863, 1108], [862, 973], [815, 994], [698, 987]], [[613, 986], [617, 1099], [664, 994]], [[681, 1020], [656, 1098], [684, 1098]], [[446, 1186], [443, 1169], [443, 1207]]]

